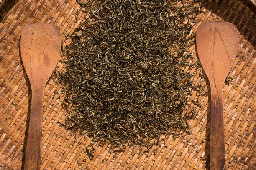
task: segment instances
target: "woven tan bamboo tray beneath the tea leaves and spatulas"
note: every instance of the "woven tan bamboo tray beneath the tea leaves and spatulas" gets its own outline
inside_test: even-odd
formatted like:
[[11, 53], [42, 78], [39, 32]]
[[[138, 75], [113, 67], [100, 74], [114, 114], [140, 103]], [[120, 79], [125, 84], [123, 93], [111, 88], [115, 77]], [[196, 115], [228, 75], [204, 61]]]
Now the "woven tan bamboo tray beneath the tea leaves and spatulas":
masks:
[[[0, 170], [23, 168], [26, 148], [27, 114], [31, 91], [26, 72], [20, 62], [19, 40], [23, 25], [28, 23], [54, 23], [65, 33], [79, 25], [83, 13], [76, 0], [0, 0]], [[224, 85], [225, 156], [227, 170], [256, 169], [256, 1], [205, 0], [198, 16], [197, 27], [210, 21], [228, 21], [239, 31], [239, 45], [235, 63], [229, 76], [233, 80]], [[77, 15], [77, 20], [76, 20]], [[68, 43], [67, 41], [64, 42]], [[195, 46], [191, 47], [194, 61]], [[63, 69], [58, 63], [57, 69]], [[186, 69], [186, 68], [185, 68]], [[193, 72], [191, 72], [193, 73]], [[198, 83], [198, 75], [194, 81]], [[206, 84], [206, 82], [204, 82]], [[41, 170], [204, 170], [209, 169], [209, 99], [199, 98], [202, 106], [189, 121], [191, 135], [179, 138], [172, 135], [160, 147], [142, 149], [138, 146], [122, 153], [108, 153], [106, 148], [95, 146], [90, 160], [83, 147], [91, 139], [71, 136], [59, 126], [66, 111], [61, 100], [61, 86], [53, 76], [44, 91]], [[210, 96], [209, 96], [210, 97]], [[193, 100], [195, 95], [190, 97]], [[76, 139], [77, 138], [77, 139]], [[74, 140], [76, 139], [76, 140]]]

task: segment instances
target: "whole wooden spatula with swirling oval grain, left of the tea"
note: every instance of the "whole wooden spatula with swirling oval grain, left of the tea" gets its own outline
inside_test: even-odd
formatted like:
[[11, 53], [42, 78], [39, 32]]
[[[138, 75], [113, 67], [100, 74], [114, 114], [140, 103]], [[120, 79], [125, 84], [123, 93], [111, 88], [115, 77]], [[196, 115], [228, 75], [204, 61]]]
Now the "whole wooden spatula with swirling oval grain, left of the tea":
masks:
[[60, 49], [56, 25], [34, 23], [23, 27], [20, 52], [32, 90], [24, 170], [39, 170], [44, 87], [59, 61]]

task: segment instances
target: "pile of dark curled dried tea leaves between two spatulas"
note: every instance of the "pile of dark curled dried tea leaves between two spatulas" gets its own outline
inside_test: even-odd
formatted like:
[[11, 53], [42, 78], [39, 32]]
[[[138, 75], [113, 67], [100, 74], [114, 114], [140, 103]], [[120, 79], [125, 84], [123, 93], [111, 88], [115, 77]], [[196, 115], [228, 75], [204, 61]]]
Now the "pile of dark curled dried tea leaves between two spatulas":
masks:
[[65, 69], [57, 72], [66, 127], [121, 150], [151, 148], [162, 135], [189, 133], [189, 97], [202, 91], [189, 74], [200, 69], [189, 62], [189, 48], [202, 1], [77, 2], [86, 15], [66, 35]]

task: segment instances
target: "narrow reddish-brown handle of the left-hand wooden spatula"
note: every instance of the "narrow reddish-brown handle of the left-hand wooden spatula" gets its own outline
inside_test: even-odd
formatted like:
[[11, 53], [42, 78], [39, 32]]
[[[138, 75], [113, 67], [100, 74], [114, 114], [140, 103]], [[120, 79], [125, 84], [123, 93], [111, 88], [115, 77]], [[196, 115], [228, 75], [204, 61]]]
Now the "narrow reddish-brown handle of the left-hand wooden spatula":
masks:
[[32, 88], [24, 170], [39, 170], [40, 168], [43, 97], [43, 88], [36, 89], [35, 91]]

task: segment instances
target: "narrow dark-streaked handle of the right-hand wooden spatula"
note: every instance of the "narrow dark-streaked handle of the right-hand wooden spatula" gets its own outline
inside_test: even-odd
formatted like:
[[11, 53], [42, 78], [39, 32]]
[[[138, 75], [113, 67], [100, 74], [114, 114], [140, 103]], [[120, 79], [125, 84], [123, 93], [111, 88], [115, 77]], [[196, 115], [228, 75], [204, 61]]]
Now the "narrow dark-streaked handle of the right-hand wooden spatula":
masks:
[[210, 170], [223, 170], [224, 165], [223, 88], [211, 85]]

